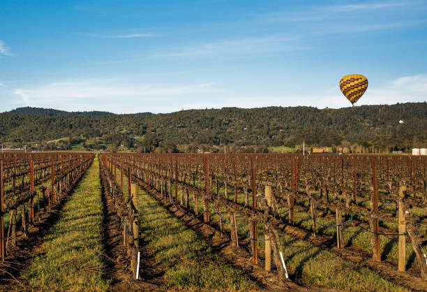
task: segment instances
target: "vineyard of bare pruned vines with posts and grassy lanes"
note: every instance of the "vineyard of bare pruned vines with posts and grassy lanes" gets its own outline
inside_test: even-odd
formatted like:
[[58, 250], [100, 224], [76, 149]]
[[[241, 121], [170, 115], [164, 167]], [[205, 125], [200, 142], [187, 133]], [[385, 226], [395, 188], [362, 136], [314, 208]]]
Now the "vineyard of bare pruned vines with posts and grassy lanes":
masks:
[[[114, 286], [119, 273], [128, 275], [121, 276], [126, 289], [426, 289], [422, 156], [0, 159], [0, 275], [7, 283], [125, 289]], [[44, 238], [34, 228], [39, 221]], [[34, 236], [43, 255], [27, 247]], [[57, 256], [65, 246], [70, 258]], [[27, 263], [18, 264], [20, 257]], [[47, 262], [61, 268], [46, 268]], [[70, 273], [77, 262], [84, 268]], [[62, 279], [77, 274], [78, 280]]]

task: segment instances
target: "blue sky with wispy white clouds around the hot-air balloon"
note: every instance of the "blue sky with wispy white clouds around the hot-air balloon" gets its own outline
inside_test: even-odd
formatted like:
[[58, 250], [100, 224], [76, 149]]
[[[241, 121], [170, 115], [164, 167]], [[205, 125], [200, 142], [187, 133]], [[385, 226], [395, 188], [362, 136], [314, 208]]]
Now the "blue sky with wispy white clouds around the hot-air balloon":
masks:
[[0, 112], [427, 100], [427, 1], [0, 1]]

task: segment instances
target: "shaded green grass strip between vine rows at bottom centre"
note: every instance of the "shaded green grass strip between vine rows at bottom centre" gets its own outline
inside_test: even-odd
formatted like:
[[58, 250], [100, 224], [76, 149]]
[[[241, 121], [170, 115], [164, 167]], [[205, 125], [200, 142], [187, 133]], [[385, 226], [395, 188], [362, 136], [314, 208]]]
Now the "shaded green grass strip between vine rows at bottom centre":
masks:
[[180, 289], [255, 289], [243, 270], [213, 254], [183, 222], [140, 189], [140, 228], [153, 255], [167, 267], [165, 280]]

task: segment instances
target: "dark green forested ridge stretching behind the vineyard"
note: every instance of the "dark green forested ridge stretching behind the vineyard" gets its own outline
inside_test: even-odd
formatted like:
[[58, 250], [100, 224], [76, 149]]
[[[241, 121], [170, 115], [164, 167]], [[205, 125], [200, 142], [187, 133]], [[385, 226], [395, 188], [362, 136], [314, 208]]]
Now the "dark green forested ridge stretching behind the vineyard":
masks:
[[[19, 114], [18, 114], [19, 113]], [[406, 148], [427, 146], [427, 103], [361, 105], [355, 108], [221, 108], [169, 114], [115, 115], [21, 108], [0, 114], [2, 143], [97, 138], [99, 145], [164, 147], [234, 145], [312, 147], [343, 144]], [[403, 121], [403, 122], [399, 122]], [[78, 139], [77, 139], [78, 140]], [[81, 142], [81, 141], [80, 141]], [[190, 150], [189, 150], [190, 151]]]

